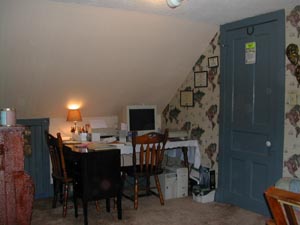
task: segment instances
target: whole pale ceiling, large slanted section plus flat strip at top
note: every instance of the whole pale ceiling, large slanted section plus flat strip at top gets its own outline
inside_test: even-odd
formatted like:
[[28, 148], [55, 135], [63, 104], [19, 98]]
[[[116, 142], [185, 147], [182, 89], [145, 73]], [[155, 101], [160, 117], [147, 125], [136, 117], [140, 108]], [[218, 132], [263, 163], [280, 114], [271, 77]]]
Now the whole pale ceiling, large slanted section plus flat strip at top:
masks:
[[128, 104], [160, 111], [220, 24], [288, 1], [257, 1], [258, 11], [239, 1], [248, 14], [212, 7], [220, 2], [0, 1], [0, 107], [15, 107], [18, 118], [65, 117], [71, 103], [83, 116], [118, 115]]

